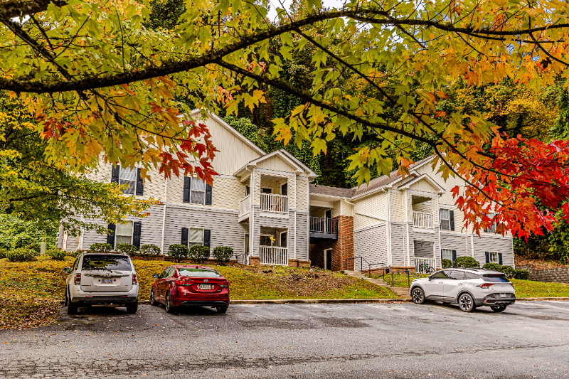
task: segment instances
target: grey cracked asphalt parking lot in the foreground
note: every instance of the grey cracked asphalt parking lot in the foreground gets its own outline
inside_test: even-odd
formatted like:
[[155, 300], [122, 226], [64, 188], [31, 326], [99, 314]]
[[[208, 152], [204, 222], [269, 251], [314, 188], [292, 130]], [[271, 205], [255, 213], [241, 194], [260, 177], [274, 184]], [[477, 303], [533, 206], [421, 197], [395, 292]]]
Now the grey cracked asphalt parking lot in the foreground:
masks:
[[569, 301], [80, 309], [0, 331], [0, 378], [569, 378]]

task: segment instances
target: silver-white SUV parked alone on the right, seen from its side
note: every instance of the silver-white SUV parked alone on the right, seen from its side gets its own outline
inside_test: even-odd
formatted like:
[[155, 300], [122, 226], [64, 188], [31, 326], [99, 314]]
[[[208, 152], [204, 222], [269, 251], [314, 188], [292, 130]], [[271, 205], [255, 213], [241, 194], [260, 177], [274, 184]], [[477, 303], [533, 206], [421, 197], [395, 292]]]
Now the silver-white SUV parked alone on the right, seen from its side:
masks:
[[465, 312], [477, 306], [501, 312], [516, 301], [514, 284], [503, 273], [491, 269], [442, 269], [430, 277], [413, 280], [409, 292], [415, 304], [442, 301], [458, 304]]

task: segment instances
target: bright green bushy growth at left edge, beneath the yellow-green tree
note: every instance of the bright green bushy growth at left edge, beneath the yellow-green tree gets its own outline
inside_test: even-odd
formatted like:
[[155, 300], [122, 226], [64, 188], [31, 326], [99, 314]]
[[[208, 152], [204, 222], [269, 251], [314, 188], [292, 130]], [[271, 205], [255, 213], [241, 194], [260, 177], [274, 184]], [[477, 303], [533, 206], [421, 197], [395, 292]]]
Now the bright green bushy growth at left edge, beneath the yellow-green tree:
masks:
[[55, 245], [58, 223], [50, 220], [25, 221], [15, 215], [0, 214], [0, 247], [16, 249], [39, 242]]

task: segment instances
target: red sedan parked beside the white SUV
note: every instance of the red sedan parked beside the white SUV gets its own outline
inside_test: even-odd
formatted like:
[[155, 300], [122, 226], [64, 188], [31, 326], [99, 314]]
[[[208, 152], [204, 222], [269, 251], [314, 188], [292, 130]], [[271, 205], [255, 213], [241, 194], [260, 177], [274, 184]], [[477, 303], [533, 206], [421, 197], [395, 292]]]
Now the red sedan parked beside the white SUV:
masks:
[[152, 277], [150, 304], [164, 304], [168, 313], [183, 305], [213, 306], [219, 313], [228, 309], [229, 282], [211, 267], [172, 265]]

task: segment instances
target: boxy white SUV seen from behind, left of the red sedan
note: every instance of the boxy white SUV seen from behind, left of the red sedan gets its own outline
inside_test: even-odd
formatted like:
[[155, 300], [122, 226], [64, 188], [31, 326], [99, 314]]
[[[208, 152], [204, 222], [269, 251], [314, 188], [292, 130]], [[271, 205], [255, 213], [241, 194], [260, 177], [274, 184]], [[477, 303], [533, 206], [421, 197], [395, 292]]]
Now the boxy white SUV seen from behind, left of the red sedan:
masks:
[[68, 314], [93, 304], [126, 306], [127, 313], [137, 312], [138, 278], [128, 255], [84, 252], [63, 272], [69, 274], [65, 281]]

